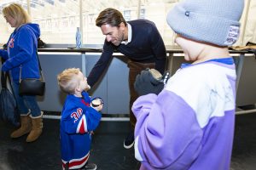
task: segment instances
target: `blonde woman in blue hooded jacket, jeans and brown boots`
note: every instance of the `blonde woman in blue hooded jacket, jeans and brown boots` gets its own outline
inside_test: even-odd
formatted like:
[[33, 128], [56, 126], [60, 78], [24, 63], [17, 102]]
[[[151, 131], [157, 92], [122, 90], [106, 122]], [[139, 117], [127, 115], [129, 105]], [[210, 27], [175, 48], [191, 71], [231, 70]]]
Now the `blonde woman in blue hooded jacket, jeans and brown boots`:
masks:
[[15, 31], [7, 42], [7, 50], [0, 50], [0, 56], [5, 59], [2, 71], [10, 71], [11, 81], [20, 111], [21, 126], [11, 133], [11, 138], [19, 138], [29, 133], [26, 142], [32, 142], [40, 136], [43, 128], [43, 112], [40, 110], [36, 96], [19, 95], [19, 77], [38, 78], [38, 24], [32, 24], [29, 14], [17, 3], [3, 8], [3, 16]]

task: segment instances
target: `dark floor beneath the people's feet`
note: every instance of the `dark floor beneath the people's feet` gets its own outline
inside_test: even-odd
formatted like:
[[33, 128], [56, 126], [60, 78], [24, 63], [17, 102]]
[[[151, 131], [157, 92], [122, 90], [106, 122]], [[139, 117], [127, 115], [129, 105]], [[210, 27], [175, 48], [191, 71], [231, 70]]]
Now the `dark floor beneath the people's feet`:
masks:
[[[59, 121], [44, 119], [44, 133], [31, 144], [26, 136], [10, 139], [14, 127], [0, 122], [0, 170], [61, 170]], [[125, 150], [128, 122], [101, 122], [97, 128], [90, 161], [98, 170], [137, 170], [134, 150]], [[230, 170], [256, 169], [256, 113], [236, 116], [236, 133]]]

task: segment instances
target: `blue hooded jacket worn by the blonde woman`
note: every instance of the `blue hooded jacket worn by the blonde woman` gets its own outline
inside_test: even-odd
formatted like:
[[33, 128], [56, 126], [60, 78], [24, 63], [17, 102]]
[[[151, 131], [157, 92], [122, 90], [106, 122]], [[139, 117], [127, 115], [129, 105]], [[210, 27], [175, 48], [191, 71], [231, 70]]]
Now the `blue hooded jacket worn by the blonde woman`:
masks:
[[22, 25], [10, 35], [7, 50], [0, 50], [0, 56], [6, 59], [2, 71], [11, 71], [14, 82], [19, 82], [20, 67], [21, 78], [39, 77], [37, 57], [39, 36], [38, 24]]

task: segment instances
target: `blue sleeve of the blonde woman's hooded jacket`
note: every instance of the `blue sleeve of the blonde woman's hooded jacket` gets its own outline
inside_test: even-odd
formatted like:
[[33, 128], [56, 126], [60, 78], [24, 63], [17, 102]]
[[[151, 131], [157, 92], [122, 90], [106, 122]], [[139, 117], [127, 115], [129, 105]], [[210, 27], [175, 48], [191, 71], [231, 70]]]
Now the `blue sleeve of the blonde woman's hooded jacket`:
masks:
[[18, 49], [19, 52], [16, 53], [15, 56], [9, 57], [9, 59], [4, 62], [2, 71], [9, 71], [32, 58], [35, 46], [32, 31], [26, 27], [21, 27], [15, 41], [15, 48]]

